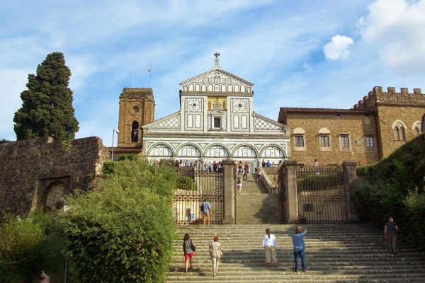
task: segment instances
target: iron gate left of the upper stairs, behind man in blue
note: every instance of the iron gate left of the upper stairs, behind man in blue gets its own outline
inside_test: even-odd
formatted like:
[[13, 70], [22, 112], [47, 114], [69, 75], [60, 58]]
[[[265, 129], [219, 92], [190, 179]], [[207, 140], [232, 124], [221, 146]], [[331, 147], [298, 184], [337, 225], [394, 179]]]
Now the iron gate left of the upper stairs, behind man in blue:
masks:
[[194, 168], [176, 168], [179, 173], [174, 192], [173, 216], [178, 224], [201, 224], [200, 204], [211, 204], [210, 224], [223, 221], [223, 187], [221, 171], [201, 171]]

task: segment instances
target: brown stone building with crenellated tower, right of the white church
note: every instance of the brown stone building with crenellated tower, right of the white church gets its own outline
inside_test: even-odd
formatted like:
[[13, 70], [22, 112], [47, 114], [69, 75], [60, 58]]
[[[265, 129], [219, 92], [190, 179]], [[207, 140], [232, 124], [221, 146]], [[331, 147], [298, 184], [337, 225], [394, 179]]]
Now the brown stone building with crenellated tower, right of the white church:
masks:
[[421, 134], [425, 95], [420, 88], [383, 92], [375, 86], [352, 109], [280, 108], [278, 122], [288, 125], [292, 158], [312, 166], [375, 163]]

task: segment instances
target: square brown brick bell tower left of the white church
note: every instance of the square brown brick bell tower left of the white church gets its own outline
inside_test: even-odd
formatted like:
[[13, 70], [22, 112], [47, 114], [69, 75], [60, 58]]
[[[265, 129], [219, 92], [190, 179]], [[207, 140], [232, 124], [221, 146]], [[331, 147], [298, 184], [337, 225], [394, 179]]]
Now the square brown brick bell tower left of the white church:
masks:
[[141, 126], [154, 120], [152, 88], [123, 88], [118, 117], [118, 147], [140, 147], [143, 141]]

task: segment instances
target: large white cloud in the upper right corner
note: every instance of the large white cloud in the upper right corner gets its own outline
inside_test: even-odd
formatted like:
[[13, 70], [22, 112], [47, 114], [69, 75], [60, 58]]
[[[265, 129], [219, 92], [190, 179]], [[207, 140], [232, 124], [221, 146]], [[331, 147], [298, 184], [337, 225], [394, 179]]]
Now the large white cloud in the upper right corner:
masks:
[[361, 23], [365, 44], [392, 71], [425, 75], [425, 0], [378, 0]]

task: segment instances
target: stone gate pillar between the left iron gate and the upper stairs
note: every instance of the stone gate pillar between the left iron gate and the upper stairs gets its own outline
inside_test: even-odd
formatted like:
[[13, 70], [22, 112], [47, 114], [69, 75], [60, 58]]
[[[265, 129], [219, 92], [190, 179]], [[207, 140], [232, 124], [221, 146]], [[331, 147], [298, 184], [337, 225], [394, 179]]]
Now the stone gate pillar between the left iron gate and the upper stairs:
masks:
[[223, 224], [234, 224], [234, 161], [223, 159]]

